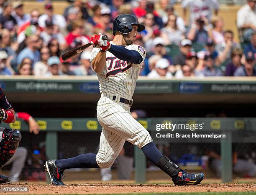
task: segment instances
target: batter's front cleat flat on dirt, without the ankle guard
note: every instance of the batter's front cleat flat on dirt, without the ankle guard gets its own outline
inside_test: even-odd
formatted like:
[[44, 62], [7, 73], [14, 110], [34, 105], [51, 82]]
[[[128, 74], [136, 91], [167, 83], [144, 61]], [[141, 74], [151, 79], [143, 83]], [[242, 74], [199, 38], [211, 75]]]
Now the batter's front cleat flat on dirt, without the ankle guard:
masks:
[[187, 173], [186, 169], [178, 173], [176, 179], [172, 178], [175, 185], [197, 185], [205, 178], [203, 173]]

